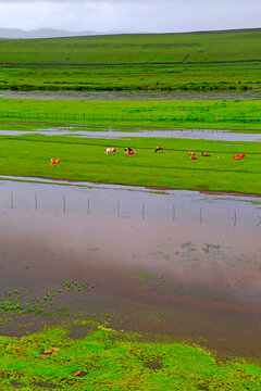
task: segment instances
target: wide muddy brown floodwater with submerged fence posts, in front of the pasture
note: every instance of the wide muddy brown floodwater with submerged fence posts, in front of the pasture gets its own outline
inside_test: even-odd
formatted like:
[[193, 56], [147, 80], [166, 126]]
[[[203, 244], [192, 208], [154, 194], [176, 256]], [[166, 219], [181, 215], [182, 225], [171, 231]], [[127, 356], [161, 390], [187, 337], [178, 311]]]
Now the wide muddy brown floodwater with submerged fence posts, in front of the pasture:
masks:
[[0, 298], [46, 297], [2, 308], [1, 335], [74, 316], [260, 358], [260, 199], [3, 180], [0, 216]]

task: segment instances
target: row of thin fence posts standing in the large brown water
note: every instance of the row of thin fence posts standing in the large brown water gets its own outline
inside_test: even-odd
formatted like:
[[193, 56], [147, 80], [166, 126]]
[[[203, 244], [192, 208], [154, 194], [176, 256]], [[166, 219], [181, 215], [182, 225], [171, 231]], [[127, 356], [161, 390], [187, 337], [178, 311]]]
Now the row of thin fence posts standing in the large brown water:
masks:
[[[157, 206], [157, 207], [156, 207]], [[154, 204], [149, 201], [126, 202], [126, 200], [97, 199], [85, 197], [80, 200], [67, 195], [47, 199], [32, 194], [30, 199], [21, 199], [18, 193], [11, 191], [0, 198], [0, 210], [48, 212], [55, 215], [80, 214], [80, 216], [114, 216], [117, 218], [138, 218], [140, 220], [158, 220], [160, 223], [191, 223], [196, 225], [223, 225], [227, 227], [260, 227], [261, 214], [257, 209], [224, 209], [213, 205], [181, 205], [181, 203]]]

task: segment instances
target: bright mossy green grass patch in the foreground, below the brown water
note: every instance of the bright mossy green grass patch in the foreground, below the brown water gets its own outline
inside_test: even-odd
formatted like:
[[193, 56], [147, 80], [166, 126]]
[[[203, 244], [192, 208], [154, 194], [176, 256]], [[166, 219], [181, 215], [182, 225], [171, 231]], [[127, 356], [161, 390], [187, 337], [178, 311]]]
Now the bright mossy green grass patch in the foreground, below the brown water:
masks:
[[13, 387], [24, 391], [261, 388], [261, 369], [243, 360], [224, 364], [198, 345], [157, 341], [94, 325], [83, 340], [70, 338], [67, 329], [60, 327], [20, 339], [1, 337], [0, 345], [0, 377], [7, 391]]

